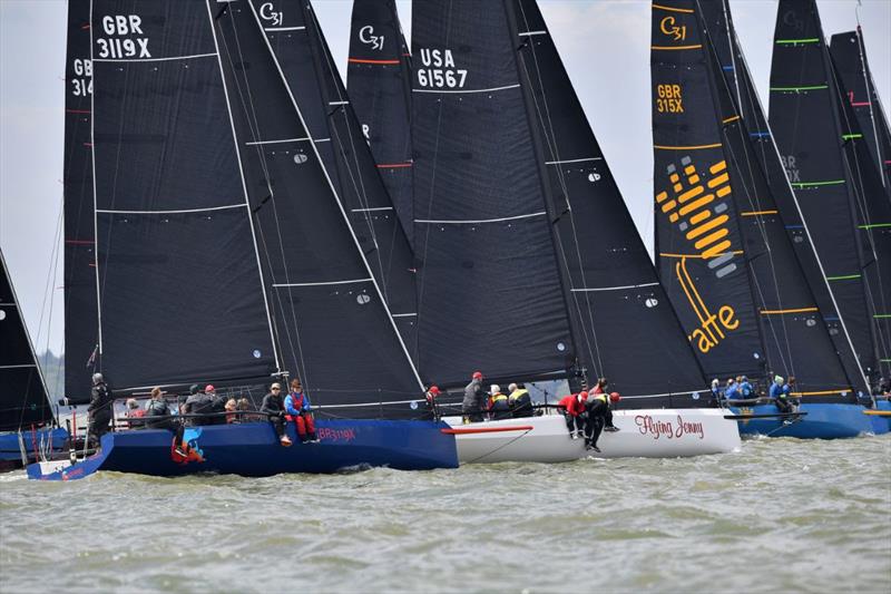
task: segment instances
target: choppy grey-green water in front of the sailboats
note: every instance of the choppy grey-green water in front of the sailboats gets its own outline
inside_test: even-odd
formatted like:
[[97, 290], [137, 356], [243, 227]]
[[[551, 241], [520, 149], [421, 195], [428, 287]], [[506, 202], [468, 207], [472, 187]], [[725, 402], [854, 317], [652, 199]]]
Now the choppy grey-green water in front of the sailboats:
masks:
[[693, 459], [0, 479], [0, 591], [891, 591], [891, 435]]

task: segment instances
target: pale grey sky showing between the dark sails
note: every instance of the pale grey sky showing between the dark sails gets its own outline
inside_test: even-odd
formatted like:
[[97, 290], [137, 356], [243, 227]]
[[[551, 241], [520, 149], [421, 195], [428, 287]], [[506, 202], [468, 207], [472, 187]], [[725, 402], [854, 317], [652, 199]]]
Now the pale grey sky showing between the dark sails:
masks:
[[[398, 0], [398, 4], [410, 36], [411, 3]], [[650, 3], [539, 0], [539, 4], [625, 202], [652, 244]], [[817, 4], [828, 37], [856, 27], [855, 0], [817, 0]], [[315, 0], [314, 6], [343, 71], [352, 1]], [[731, 0], [731, 8], [766, 107], [776, 0]], [[870, 67], [888, 108], [891, 0], [863, 0], [860, 20]], [[61, 351], [63, 329], [62, 263], [55, 253], [62, 203], [65, 38], [65, 0], [0, 0], [0, 247], [36, 349], [50, 347], [55, 352]]]

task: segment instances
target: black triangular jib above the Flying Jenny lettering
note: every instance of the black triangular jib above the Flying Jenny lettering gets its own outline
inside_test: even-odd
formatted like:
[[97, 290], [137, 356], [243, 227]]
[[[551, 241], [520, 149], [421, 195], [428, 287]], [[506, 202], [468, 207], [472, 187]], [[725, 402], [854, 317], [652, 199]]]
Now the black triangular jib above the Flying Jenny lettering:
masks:
[[[515, 0], [579, 359], [633, 408], [707, 405], [702, 370], [535, 0]], [[642, 364], [645, 362], [644, 364]]]

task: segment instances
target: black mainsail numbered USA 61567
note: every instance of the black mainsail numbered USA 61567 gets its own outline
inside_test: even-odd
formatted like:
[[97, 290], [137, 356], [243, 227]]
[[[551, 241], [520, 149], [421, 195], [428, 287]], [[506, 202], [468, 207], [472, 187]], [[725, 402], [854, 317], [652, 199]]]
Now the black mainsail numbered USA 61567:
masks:
[[414, 245], [425, 377], [566, 377], [579, 354], [503, 1], [412, 14]]

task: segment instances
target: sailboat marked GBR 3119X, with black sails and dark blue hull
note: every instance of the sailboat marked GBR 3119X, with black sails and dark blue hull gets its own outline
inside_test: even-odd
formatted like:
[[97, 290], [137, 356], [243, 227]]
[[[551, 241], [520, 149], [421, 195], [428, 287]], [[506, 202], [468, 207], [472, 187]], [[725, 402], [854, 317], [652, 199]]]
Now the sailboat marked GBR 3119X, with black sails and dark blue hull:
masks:
[[260, 2], [69, 10], [72, 39], [90, 32], [78, 46], [89, 108], [77, 115], [89, 120], [92, 191], [67, 193], [80, 204], [66, 214], [92, 213], [98, 328], [67, 340], [96, 335], [91, 364], [116, 395], [197, 379], [249, 395], [300, 377], [321, 442], [282, 447], [265, 421], [199, 426], [185, 430], [183, 456], [170, 431], [112, 431], [94, 456], [29, 476], [456, 467], [446, 425], [411, 420], [420, 378]]

